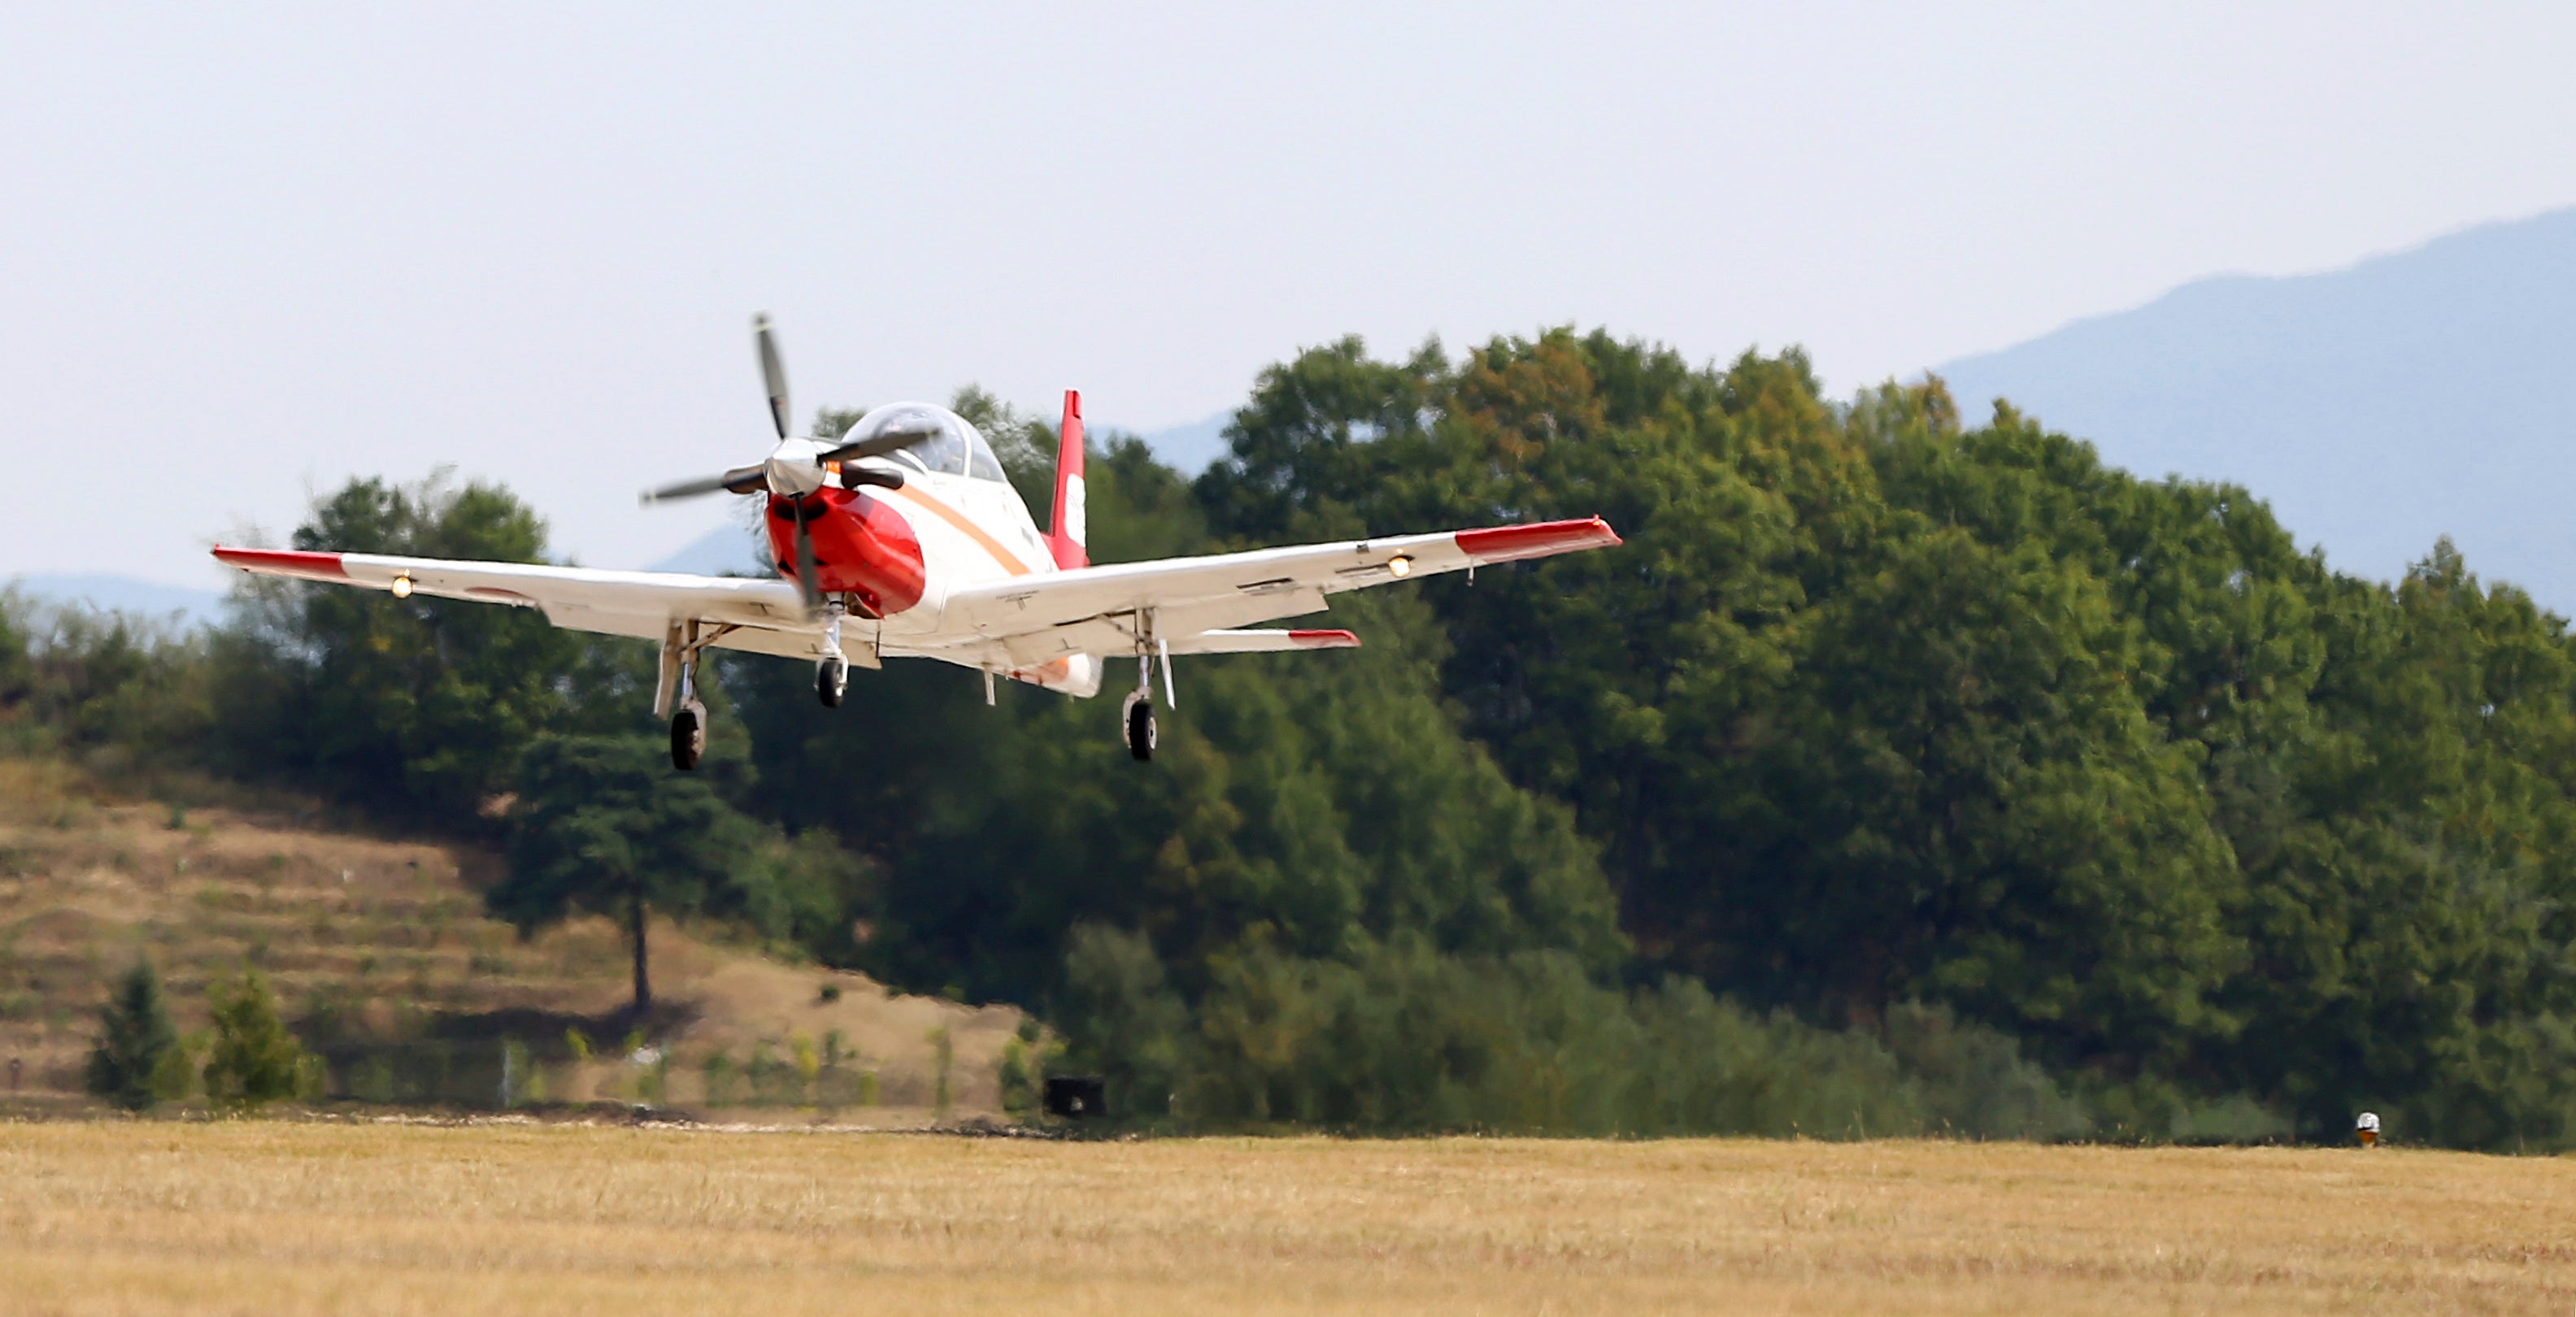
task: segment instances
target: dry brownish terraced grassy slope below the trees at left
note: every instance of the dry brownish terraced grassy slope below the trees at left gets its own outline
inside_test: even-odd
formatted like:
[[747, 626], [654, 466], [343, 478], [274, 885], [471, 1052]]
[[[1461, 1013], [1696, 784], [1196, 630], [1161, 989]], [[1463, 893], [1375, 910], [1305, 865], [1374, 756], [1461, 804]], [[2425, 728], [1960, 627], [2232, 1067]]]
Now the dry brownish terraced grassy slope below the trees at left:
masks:
[[500, 1106], [507, 1067], [513, 1103], [920, 1124], [940, 1108], [945, 1033], [948, 1113], [999, 1108], [1012, 1008], [889, 995], [860, 974], [657, 920], [659, 1005], [639, 1028], [621, 1015], [629, 956], [608, 920], [523, 941], [482, 910], [497, 856], [304, 814], [291, 802], [121, 799], [57, 760], [0, 760], [0, 1085], [18, 1062], [8, 1098], [77, 1095], [106, 982], [147, 954], [183, 1031], [206, 1026], [211, 979], [265, 972], [296, 1031], [330, 1057], [337, 1101]]

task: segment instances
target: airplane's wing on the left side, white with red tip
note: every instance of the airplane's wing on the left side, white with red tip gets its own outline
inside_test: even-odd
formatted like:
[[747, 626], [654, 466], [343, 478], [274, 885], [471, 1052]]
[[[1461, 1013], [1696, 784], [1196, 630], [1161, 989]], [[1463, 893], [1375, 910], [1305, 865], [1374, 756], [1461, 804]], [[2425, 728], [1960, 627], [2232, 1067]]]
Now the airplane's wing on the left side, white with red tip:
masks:
[[[299, 549], [232, 549], [214, 557], [268, 577], [325, 580], [366, 590], [466, 598], [538, 608], [574, 631], [659, 642], [672, 621], [729, 626], [716, 644], [762, 655], [814, 657], [817, 639], [804, 601], [783, 580], [696, 577], [680, 572], [603, 572], [546, 562], [448, 562], [389, 554], [309, 554]], [[866, 662], [853, 655], [853, 662]]]

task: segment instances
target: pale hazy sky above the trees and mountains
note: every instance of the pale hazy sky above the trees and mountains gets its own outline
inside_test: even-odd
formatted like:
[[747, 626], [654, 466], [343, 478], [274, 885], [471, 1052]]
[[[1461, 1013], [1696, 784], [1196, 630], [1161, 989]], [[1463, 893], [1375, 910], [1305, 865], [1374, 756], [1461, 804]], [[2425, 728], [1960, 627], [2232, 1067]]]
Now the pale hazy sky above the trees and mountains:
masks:
[[647, 482], [961, 381], [1159, 428], [1298, 345], [1607, 325], [1837, 389], [2576, 204], [2571, 5], [10, 5], [0, 577], [312, 490]]

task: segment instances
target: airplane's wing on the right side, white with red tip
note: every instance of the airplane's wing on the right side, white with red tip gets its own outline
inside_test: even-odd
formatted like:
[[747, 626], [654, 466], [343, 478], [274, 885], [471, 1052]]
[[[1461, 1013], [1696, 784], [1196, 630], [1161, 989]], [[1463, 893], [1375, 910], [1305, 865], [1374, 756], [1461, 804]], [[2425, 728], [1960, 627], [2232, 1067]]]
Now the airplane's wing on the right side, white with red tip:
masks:
[[[1131, 652], [1144, 619], [1151, 616], [1154, 634], [1167, 639], [1172, 652], [1190, 652], [1190, 637], [1314, 613], [1324, 608], [1327, 595], [1342, 590], [1494, 562], [1605, 549], [1618, 541], [1618, 531], [1607, 521], [1579, 518], [1115, 562], [958, 590], [948, 595], [940, 629], [1002, 642], [1012, 662], [1038, 665], [1077, 652]], [[1216, 644], [1229, 642], [1211, 642], [1200, 652], [1221, 652]], [[1285, 639], [1231, 644], [1301, 647]]]

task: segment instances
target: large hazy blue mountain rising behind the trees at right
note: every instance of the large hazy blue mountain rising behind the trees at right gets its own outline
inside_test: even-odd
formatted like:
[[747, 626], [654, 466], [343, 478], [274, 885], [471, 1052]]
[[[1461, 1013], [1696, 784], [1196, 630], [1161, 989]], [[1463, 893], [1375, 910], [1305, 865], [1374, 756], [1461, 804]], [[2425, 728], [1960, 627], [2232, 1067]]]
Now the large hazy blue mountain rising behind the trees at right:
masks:
[[2396, 577], [2447, 534], [2576, 613], [2576, 209], [2205, 278], [1937, 374], [1971, 423], [2009, 397], [2130, 472], [2239, 482], [2336, 570]]

